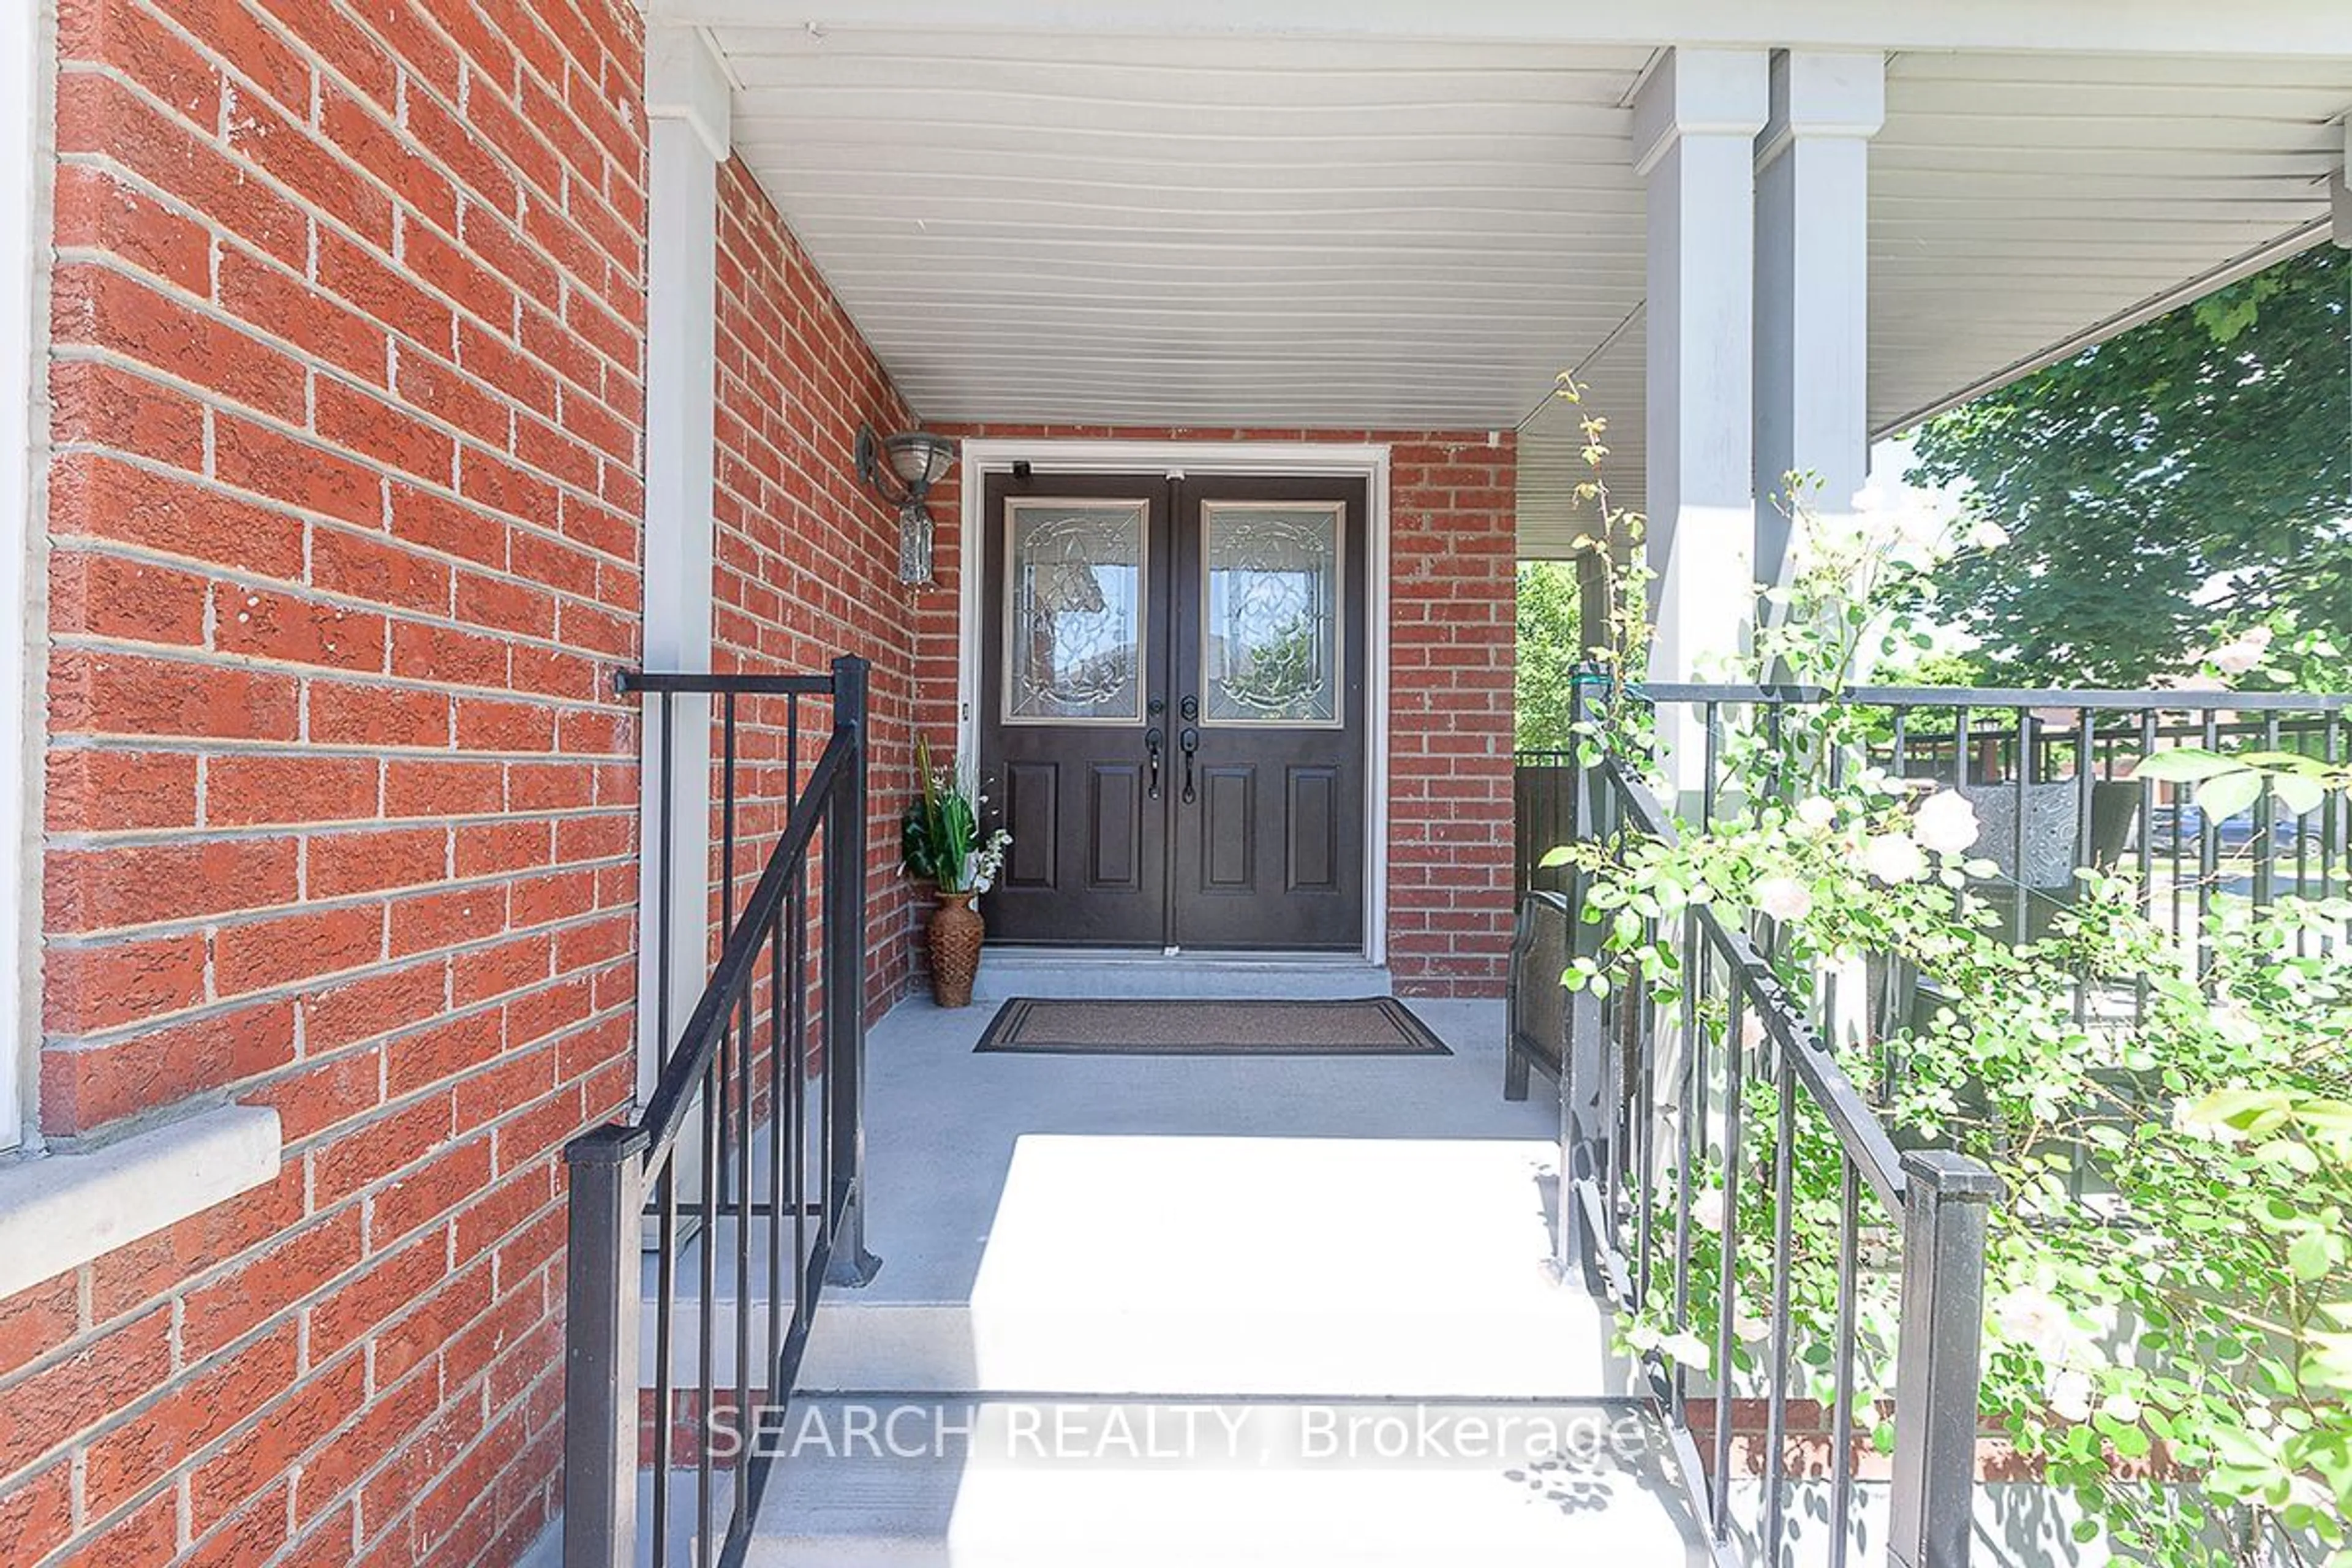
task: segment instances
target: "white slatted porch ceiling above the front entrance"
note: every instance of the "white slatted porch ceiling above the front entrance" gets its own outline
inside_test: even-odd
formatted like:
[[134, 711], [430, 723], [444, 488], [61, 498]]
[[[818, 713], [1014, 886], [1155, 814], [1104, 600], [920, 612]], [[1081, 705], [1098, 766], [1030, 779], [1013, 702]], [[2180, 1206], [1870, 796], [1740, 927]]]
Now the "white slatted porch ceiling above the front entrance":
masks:
[[[1651, 47], [720, 24], [734, 141], [929, 421], [1526, 425], [1642, 475]], [[2333, 40], [2331, 40], [2333, 42]], [[2324, 235], [2352, 54], [1905, 52], [1872, 143], [1872, 423]], [[1534, 414], [1534, 418], [1529, 418]]]

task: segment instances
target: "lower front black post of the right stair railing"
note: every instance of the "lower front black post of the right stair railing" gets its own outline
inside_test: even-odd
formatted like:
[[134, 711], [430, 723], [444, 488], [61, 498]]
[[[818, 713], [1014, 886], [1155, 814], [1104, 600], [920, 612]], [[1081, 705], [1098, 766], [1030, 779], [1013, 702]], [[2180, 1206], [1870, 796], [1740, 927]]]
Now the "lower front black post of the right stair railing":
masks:
[[1985, 1220], [1999, 1178], [1950, 1150], [1903, 1157], [1903, 1333], [1889, 1556], [1966, 1568], [1976, 1514], [1976, 1399], [1985, 1326]]

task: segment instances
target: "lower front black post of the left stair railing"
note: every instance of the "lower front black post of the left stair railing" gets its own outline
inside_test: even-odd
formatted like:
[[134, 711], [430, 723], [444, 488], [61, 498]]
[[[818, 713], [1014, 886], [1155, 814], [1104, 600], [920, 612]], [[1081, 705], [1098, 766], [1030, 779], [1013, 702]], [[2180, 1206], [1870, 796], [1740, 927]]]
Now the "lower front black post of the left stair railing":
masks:
[[[642, 1126], [600, 1126], [564, 1147], [564, 1568], [637, 1561], [637, 1314]], [[659, 1418], [656, 1418], [659, 1420]], [[654, 1486], [661, 1486], [661, 1476]]]

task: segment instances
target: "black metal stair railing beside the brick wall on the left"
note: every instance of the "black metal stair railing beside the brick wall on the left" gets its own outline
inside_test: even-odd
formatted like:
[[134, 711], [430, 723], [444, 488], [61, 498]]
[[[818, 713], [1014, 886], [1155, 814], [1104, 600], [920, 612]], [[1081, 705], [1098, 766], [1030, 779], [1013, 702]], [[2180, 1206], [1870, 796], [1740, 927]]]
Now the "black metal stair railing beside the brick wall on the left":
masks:
[[[564, 1566], [663, 1568], [677, 1547], [684, 1561], [731, 1566], [769, 1481], [760, 1434], [781, 1429], [821, 1291], [866, 1284], [877, 1267], [863, 1237], [866, 661], [837, 658], [830, 675], [628, 675], [621, 689], [656, 708], [661, 959], [647, 1001], [659, 1039], [675, 1044], [635, 1121], [564, 1150]], [[830, 701], [833, 724], [804, 769], [802, 701], [816, 698]], [[670, 893], [673, 759], [680, 722], [706, 722], [706, 701], [724, 778], [717, 959], [673, 1037], [673, 938], [680, 922], [699, 931], [708, 919]], [[764, 788], [746, 792], [739, 776]], [[774, 816], [771, 832], [760, 813]], [[739, 900], [739, 856], [753, 844], [764, 856]], [[691, 1495], [677, 1486], [687, 1472]]]

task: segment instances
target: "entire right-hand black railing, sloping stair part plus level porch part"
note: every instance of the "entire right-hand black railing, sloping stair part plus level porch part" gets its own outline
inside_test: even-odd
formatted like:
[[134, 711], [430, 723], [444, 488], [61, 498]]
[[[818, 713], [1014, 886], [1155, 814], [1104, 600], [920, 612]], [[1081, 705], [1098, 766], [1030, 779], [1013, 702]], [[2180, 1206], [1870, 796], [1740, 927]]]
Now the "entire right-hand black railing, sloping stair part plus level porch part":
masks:
[[[1621, 835], [1672, 842], [1689, 823], [1745, 813], [1755, 802], [1726, 795], [1724, 757], [1733, 736], [1780, 736], [1790, 710], [1823, 703], [1809, 689], [1651, 684], [1639, 691], [1696, 757], [1675, 769], [1686, 785], [1670, 811], [1642, 780], [1637, 759], [1571, 752], [1522, 755], [1522, 830], [1541, 823], [1555, 844]], [[2347, 802], [2328, 795], [2305, 813], [2272, 792], [2232, 816], [2197, 811], [2190, 785], [2138, 778], [2143, 757], [2197, 745], [2213, 752], [2300, 752], [2340, 766], [2352, 698], [2288, 693], [1990, 691], [1865, 686], [1839, 693], [1860, 722], [1842, 726], [1832, 776], [1879, 766], [1898, 778], [1959, 790], [1976, 804], [1994, 863], [1976, 886], [2009, 940], [2046, 933], [2077, 896], [2079, 870], [2136, 872], [2140, 910], [2171, 933], [2185, 973], [2209, 959], [2209, 922], [2258, 912], [2281, 893], [2345, 891]], [[1851, 717], [1851, 712], [1849, 712]], [[1679, 724], [1677, 724], [1679, 719]], [[1696, 764], [1696, 766], [1691, 766]], [[1529, 804], [1534, 802], [1534, 804]], [[1677, 816], [1682, 820], [1677, 820]], [[1686, 1356], [1642, 1356], [1682, 1476], [1722, 1561], [1783, 1561], [1790, 1528], [1792, 1403], [1806, 1403], [1825, 1439], [1828, 1561], [1842, 1566], [1853, 1540], [1856, 1312], [1865, 1274], [1898, 1272], [1893, 1352], [1893, 1455], [1889, 1561], [1898, 1568], [1962, 1568], [1976, 1490], [1978, 1347], [1987, 1206], [2002, 1201], [1987, 1166], [1945, 1150], [1900, 1150], [1877, 1100], [1844, 1072], [1830, 1041], [1856, 1020], [1839, 1018], [1835, 978], [1792, 994], [1750, 933], [1712, 907], [1675, 917], [1679, 994], [1663, 1006], [1639, 983], [1604, 997], [1559, 992], [1552, 980], [1576, 957], [1597, 957], [1599, 926], [1581, 917], [1585, 875], [1541, 872], [1552, 844], [1519, 844], [1519, 926], [1512, 952], [1512, 1051], [1505, 1093], [1526, 1093], [1531, 1067], [1559, 1077], [1562, 1093], [1562, 1262], [1588, 1267], [1625, 1312], [1663, 1312], [1661, 1338], [1710, 1328], [1705, 1373]], [[1529, 884], [1534, 884], [1529, 889]], [[1658, 936], [1658, 922], [1646, 922]], [[2298, 940], [2340, 943], [2347, 933], [2298, 926]], [[1912, 1025], [1917, 997], [1898, 976], [1879, 976], [1865, 1037]], [[1931, 980], [1910, 976], [1915, 990]], [[2077, 997], [2077, 1013], [2091, 1006]], [[2131, 1016], [2133, 999], [2105, 999]], [[1886, 1086], [1879, 1084], [1879, 1091]], [[1759, 1093], [1762, 1091], [1762, 1093]], [[1759, 1110], [1762, 1107], [1762, 1110]], [[1757, 1114], [1766, 1126], [1757, 1128]], [[1799, 1114], [1828, 1128], [1839, 1161], [1835, 1225], [1835, 1316], [1828, 1345], [1795, 1345], [1790, 1291], [1795, 1239], [1795, 1150]], [[1693, 1279], [1693, 1197], [1700, 1173], [1724, 1187], [1712, 1232], [1712, 1279]], [[1769, 1302], [1740, 1300], [1738, 1227], [1743, 1194], [1766, 1215]], [[1865, 1204], [1867, 1199], [1867, 1204]], [[1748, 1279], [1750, 1295], [1755, 1279]], [[1736, 1345], [1755, 1307], [1762, 1349]], [[1712, 1312], [1712, 1324], [1705, 1321]], [[1686, 1345], [1686, 1340], [1684, 1340]], [[1792, 1396], [1818, 1387], [1792, 1375], [1792, 1356], [1828, 1356], [1828, 1410]], [[1726, 1368], [1743, 1368], [1731, 1373]], [[1828, 1415], [1828, 1432], [1820, 1418]], [[1755, 1476], [1752, 1516], [1736, 1516], [1736, 1472]]]

